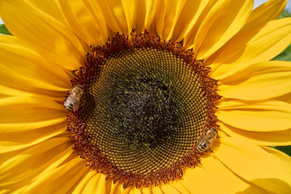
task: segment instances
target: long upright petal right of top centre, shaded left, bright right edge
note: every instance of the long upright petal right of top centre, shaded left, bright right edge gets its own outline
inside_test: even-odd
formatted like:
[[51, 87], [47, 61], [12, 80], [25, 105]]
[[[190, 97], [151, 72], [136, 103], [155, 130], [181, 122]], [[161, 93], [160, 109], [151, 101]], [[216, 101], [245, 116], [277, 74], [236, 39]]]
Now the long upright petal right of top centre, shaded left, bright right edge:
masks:
[[245, 24], [253, 7], [253, 1], [218, 1], [200, 25], [194, 40], [196, 58], [212, 55]]

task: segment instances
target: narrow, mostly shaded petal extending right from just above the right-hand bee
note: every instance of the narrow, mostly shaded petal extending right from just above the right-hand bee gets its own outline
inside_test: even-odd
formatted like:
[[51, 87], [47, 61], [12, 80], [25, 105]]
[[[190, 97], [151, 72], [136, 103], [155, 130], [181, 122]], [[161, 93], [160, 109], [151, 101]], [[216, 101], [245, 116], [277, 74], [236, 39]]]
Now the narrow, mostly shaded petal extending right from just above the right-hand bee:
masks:
[[250, 141], [256, 145], [278, 146], [291, 144], [291, 129], [284, 131], [246, 131], [221, 121], [218, 121], [217, 124], [229, 136]]

